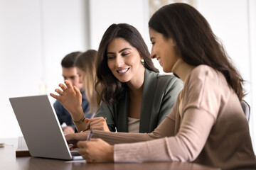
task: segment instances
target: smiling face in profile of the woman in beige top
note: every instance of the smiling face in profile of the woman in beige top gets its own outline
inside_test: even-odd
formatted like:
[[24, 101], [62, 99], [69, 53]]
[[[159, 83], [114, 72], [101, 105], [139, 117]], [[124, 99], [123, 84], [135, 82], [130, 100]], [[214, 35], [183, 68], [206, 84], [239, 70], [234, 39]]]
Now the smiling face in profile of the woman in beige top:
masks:
[[151, 28], [149, 28], [149, 36], [152, 42], [150, 57], [159, 61], [164, 72], [171, 72], [179, 58], [174, 40], [172, 38], [164, 38], [164, 35]]

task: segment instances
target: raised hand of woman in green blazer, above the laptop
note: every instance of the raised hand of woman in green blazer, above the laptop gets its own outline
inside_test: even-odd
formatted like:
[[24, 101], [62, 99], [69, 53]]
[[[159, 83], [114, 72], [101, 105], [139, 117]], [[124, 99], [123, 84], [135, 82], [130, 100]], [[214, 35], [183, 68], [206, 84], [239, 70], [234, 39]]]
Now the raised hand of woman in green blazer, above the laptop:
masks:
[[71, 115], [74, 113], [81, 115], [80, 111], [82, 109], [82, 94], [80, 89], [78, 89], [76, 86], [72, 86], [68, 80], [65, 80], [64, 83], [66, 86], [64, 84], [59, 84], [62, 90], [55, 89], [55, 92], [57, 92], [59, 96], [52, 93], [50, 93], [50, 96], [60, 101], [60, 103], [65, 109], [67, 109], [67, 111], [70, 112]]

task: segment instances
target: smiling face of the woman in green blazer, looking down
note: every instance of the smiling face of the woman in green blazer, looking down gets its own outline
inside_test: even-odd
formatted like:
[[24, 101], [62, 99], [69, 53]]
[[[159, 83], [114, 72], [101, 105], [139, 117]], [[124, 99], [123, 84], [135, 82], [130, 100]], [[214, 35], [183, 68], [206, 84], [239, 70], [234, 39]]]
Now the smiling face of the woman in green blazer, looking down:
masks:
[[114, 38], [107, 46], [107, 65], [121, 82], [136, 83], [144, 79], [142, 57], [138, 50], [123, 38]]

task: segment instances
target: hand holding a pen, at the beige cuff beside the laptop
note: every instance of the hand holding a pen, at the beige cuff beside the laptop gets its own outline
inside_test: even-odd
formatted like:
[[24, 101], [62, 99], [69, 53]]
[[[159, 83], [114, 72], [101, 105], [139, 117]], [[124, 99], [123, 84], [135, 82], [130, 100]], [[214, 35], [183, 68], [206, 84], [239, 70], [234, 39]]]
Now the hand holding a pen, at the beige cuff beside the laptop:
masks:
[[78, 153], [86, 162], [114, 162], [114, 146], [101, 139], [78, 142]]

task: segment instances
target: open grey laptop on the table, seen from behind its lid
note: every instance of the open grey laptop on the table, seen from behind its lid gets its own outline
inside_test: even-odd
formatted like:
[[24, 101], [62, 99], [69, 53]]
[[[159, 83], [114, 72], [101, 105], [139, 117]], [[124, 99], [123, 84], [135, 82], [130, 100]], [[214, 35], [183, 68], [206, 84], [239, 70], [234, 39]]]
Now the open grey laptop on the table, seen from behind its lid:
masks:
[[82, 159], [72, 154], [47, 95], [9, 98], [32, 157]]

